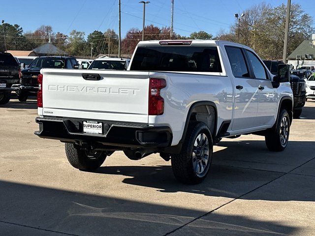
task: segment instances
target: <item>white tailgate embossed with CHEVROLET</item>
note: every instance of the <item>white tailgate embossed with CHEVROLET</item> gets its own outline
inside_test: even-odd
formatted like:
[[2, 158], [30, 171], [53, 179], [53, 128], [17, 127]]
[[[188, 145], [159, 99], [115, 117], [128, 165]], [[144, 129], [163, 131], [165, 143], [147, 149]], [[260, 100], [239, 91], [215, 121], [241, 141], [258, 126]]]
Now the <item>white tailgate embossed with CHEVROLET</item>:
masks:
[[[42, 69], [42, 116], [148, 123], [149, 72]], [[84, 74], [98, 80], [84, 79]]]

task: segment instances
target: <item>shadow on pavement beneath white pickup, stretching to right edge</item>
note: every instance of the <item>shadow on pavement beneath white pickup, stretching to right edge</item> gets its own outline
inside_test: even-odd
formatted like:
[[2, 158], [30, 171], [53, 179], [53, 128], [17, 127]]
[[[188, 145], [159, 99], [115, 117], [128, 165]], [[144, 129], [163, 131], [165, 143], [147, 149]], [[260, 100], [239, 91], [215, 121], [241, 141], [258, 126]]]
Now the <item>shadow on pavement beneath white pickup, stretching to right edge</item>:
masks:
[[[283, 152], [270, 152], [264, 141], [220, 142], [227, 147], [216, 151], [208, 177], [197, 185], [178, 183], [168, 166], [103, 166], [96, 173], [126, 176], [124, 183], [157, 188], [161, 192], [189, 192], [206, 196], [238, 198], [314, 157], [315, 142], [291, 141]], [[299, 147], [299, 148], [296, 148]], [[309, 154], [309, 156], [307, 155]], [[305, 155], [305, 160], [301, 159]], [[106, 164], [106, 161], [105, 161]], [[245, 166], [249, 165], [249, 166]], [[268, 171], [268, 166], [287, 170]], [[267, 166], [267, 167], [266, 167]], [[280, 166], [280, 167], [278, 167]], [[247, 196], [244, 199], [269, 201], [315, 201], [314, 177], [309, 181], [288, 183], [281, 195]], [[292, 189], [291, 189], [292, 188]], [[308, 191], [301, 192], [301, 189]]]

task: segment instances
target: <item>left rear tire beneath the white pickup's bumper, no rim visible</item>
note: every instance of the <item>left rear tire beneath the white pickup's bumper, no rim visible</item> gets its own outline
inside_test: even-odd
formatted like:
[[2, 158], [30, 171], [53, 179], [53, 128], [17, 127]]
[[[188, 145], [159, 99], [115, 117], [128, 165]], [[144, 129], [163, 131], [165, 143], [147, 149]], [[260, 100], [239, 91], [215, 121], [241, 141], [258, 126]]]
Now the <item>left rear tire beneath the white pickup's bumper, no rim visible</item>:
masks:
[[71, 166], [83, 171], [93, 171], [100, 167], [106, 159], [103, 151], [95, 151], [95, 156], [81, 149], [76, 144], [65, 144], [65, 154]]

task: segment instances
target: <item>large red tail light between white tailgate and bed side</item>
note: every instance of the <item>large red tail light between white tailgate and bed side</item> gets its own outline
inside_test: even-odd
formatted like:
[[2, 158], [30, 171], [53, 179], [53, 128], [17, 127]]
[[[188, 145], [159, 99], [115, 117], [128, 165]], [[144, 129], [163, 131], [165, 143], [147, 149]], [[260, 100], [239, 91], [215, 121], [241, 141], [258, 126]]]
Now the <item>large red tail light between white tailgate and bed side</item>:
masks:
[[150, 78], [149, 84], [149, 115], [162, 115], [164, 113], [164, 99], [160, 90], [166, 87], [164, 79]]

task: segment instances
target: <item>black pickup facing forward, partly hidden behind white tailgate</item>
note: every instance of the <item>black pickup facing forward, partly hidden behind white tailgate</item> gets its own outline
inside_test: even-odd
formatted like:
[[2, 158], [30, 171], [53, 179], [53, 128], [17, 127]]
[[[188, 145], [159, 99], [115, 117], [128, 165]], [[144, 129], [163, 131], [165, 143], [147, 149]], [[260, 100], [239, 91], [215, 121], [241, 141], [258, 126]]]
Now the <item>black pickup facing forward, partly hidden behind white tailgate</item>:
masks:
[[42, 68], [77, 69], [79, 63], [73, 57], [39, 57], [24, 70], [22, 70], [20, 83], [12, 88], [18, 95], [20, 102], [25, 102], [30, 95], [36, 95], [38, 91], [37, 75]]

